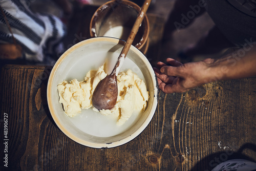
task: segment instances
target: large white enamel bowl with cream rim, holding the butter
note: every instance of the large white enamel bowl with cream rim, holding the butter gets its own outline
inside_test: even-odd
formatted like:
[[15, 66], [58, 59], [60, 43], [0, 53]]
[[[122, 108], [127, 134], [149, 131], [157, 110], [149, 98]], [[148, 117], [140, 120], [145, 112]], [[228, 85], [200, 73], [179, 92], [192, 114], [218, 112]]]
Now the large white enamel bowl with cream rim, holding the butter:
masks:
[[117, 126], [115, 118], [103, 116], [92, 109], [83, 109], [81, 114], [71, 118], [58, 102], [59, 82], [74, 78], [82, 81], [88, 71], [97, 70], [105, 61], [111, 63], [111, 71], [123, 45], [124, 41], [112, 37], [81, 41], [63, 53], [51, 71], [47, 87], [49, 110], [59, 129], [77, 143], [94, 148], [122, 145], [137, 137], [155, 114], [158, 97], [156, 76], [150, 62], [134, 46], [127, 54], [121, 71], [131, 69], [145, 81], [150, 99], [144, 112], [134, 113], [122, 126]]

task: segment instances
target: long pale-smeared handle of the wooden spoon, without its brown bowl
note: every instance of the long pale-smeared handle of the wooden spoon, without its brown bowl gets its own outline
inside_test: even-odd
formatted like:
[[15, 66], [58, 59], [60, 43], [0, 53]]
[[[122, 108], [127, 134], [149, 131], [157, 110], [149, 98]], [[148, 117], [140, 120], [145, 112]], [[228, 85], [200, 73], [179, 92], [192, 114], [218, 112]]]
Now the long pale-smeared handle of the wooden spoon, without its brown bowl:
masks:
[[127, 38], [127, 40], [126, 40], [126, 42], [125, 42], [125, 44], [123, 46], [123, 49], [122, 49], [122, 51], [121, 51], [121, 53], [120, 53], [120, 55], [119, 55], [119, 57], [117, 59], [116, 65], [115, 65], [111, 75], [112, 74], [118, 75], [118, 73], [120, 71], [120, 68], [122, 66], [122, 63], [123, 63], [123, 61], [124, 61], [128, 51], [129, 51], [129, 49], [131, 48], [133, 40], [134, 40], [134, 38], [135, 38], [139, 28], [140, 28], [142, 20], [143, 20], [144, 16], [146, 15], [146, 11], [147, 11], [148, 7], [150, 6], [151, 1], [152, 0], [145, 0], [144, 1], [143, 5], [142, 5], [142, 7], [141, 7], [141, 9], [139, 11], [139, 14], [137, 16], [137, 19], [136, 19], [136, 21], [135, 21], [135, 23], [133, 25], [133, 28], [132, 28], [132, 30], [131, 30], [131, 32], [129, 34], [129, 37]]

